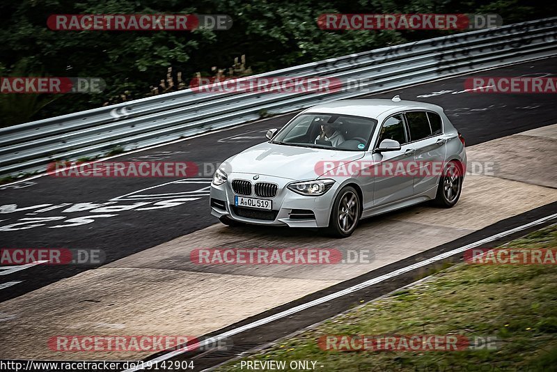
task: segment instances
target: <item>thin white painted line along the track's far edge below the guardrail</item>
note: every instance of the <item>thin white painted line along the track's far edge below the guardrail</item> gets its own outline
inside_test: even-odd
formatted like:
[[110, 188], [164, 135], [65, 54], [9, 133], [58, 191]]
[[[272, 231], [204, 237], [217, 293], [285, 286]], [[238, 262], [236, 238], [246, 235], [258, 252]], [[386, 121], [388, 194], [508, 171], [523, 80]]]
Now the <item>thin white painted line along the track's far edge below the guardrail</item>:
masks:
[[[411, 85], [407, 85], [407, 86], [402, 86], [400, 88], [393, 88], [393, 89], [389, 89], [387, 91], [381, 91], [381, 92], [376, 92], [376, 93], [369, 93], [369, 94], [368, 93], [363, 93], [362, 95], [383, 94], [383, 93], [389, 93], [389, 92], [393, 92], [393, 91], [400, 91], [400, 89], [411, 88], [413, 86], [419, 86], [419, 85], [424, 85], [424, 84], [431, 84], [431, 83], [434, 83], [434, 82], [441, 82], [441, 81], [446, 80], [446, 79], [453, 79], [455, 77], [461, 77], [461, 76], [464, 76], [464, 75], [469, 75], [471, 73], [477, 73], [477, 72], [483, 72], [483, 71], [489, 71], [489, 70], [496, 70], [498, 68], [506, 68], [506, 67], [509, 67], [509, 66], [512, 66], [512, 65], [520, 65], [521, 63], [531, 63], [531, 62], [541, 61], [541, 60], [544, 60], [544, 59], [551, 59], [551, 58], [554, 58], [554, 56], [539, 57], [539, 58], [534, 58], [534, 59], [528, 59], [526, 61], [521, 61], [521, 62], [505, 63], [503, 65], [499, 65], [499, 66], [496, 66], [496, 67], [483, 68], [483, 69], [477, 70], [477, 71], [466, 71], [466, 72], [462, 72], [462, 73], [457, 74], [457, 75], [452, 75], [452, 76], [447, 76], [447, 77], [440, 77], [439, 79], [430, 80], [428, 82], [421, 82], [421, 83], [417, 83], [417, 84], [411, 84]], [[290, 114], [292, 114], [292, 112], [295, 112], [295, 111], [299, 111], [299, 110], [295, 109], [295, 110], [292, 110], [292, 111], [285, 112], [283, 114], [278, 114], [278, 115], [274, 116], [274, 118], [279, 118], [281, 116], [290, 115]], [[141, 151], [151, 150], [152, 148], [159, 148], [159, 147], [166, 146], [166, 145], [178, 144], [178, 142], [189, 141], [190, 139], [194, 139], [194, 138], [197, 138], [197, 137], [203, 137], [203, 136], [207, 136], [207, 135], [213, 134], [213, 133], [224, 132], [225, 130], [233, 130], [233, 129], [236, 129], [236, 128], [245, 127], [246, 125], [256, 124], [256, 123], [259, 123], [260, 121], [265, 121], [265, 120], [269, 120], [269, 118], [262, 118], [262, 119], [259, 119], [259, 120], [256, 120], [256, 121], [250, 121], [250, 122], [244, 123], [244, 124], [233, 125], [231, 127], [226, 127], [226, 128], [222, 128], [222, 129], [219, 129], [219, 130], [210, 130], [209, 132], [196, 134], [194, 136], [187, 137], [187, 138], [176, 139], [174, 141], [165, 142], [164, 144], [157, 144], [157, 145], [153, 145], [153, 146], [149, 146], [149, 147], [138, 148], [137, 150], [125, 151], [124, 153], [120, 153], [118, 155], [103, 157], [101, 159], [95, 159], [92, 162], [93, 163], [103, 162], [104, 160], [114, 159], [115, 157], [127, 156], [127, 155], [134, 154], [134, 153], [141, 153]], [[26, 181], [29, 181], [29, 180], [34, 180], [35, 178], [47, 176], [47, 174], [48, 173], [38, 174], [37, 176], [24, 178], [23, 180], [14, 181], [13, 183], [6, 183], [5, 185], [2, 185], [2, 186], [3, 187], [4, 186], [10, 186], [10, 185], [15, 185], [17, 183], [26, 182]]]

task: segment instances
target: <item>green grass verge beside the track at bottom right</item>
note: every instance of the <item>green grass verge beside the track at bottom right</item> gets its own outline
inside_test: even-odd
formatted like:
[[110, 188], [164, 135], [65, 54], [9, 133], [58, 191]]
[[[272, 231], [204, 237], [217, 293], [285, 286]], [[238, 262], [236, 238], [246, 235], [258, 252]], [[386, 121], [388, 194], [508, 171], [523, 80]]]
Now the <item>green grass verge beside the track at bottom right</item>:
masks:
[[[557, 247], [557, 226], [504, 247]], [[457, 352], [335, 352], [317, 345], [327, 334], [496, 336], [499, 345]], [[240, 360], [287, 366], [313, 360], [321, 371], [557, 371], [557, 265], [459, 263]], [[238, 371], [240, 360], [218, 371]]]

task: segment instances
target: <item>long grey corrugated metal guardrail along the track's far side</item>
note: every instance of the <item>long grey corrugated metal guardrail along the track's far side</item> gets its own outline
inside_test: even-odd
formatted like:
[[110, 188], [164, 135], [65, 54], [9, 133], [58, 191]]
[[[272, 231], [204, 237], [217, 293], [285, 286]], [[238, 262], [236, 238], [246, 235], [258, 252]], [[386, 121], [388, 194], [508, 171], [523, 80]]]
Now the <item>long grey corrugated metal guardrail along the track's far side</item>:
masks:
[[321, 102], [353, 98], [519, 61], [557, 55], [557, 17], [350, 54], [254, 75], [334, 77], [356, 90], [201, 93], [187, 89], [0, 130], [0, 175], [45, 171], [54, 160], [162, 144]]

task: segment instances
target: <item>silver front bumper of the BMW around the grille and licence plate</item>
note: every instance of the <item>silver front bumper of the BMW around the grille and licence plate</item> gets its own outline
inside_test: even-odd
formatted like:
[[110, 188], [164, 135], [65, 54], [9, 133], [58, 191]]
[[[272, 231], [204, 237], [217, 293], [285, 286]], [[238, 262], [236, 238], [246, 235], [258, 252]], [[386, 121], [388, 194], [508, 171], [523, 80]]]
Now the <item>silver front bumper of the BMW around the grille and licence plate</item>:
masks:
[[[210, 203], [211, 215], [220, 218], [226, 216], [238, 222], [259, 225], [290, 226], [290, 227], [326, 227], [338, 183], [322, 196], [304, 196], [286, 188], [293, 180], [272, 176], [260, 176], [254, 181], [253, 175], [246, 173], [232, 173], [226, 183], [216, 186], [211, 183]], [[251, 195], [236, 194], [232, 189], [233, 180], [249, 180], [252, 184]], [[263, 198], [254, 194], [255, 183], [274, 183], [278, 186], [276, 196]], [[265, 210], [243, 208], [235, 206], [235, 196], [253, 199], [269, 199], [272, 201], [272, 215]], [[215, 202], [217, 201], [217, 202]], [[313, 216], [306, 216], [311, 211]], [[249, 217], [246, 217], [249, 216]]]

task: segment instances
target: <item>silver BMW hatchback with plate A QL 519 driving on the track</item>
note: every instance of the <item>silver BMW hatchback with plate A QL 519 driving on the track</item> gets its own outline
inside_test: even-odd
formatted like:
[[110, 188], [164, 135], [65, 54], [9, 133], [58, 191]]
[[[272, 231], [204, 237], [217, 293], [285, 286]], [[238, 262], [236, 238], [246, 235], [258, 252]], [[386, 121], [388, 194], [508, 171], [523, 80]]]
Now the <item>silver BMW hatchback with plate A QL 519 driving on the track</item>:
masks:
[[320, 104], [267, 139], [214, 173], [211, 214], [223, 224], [326, 228], [344, 238], [362, 218], [425, 201], [450, 208], [460, 198], [464, 138], [434, 104], [398, 96]]

